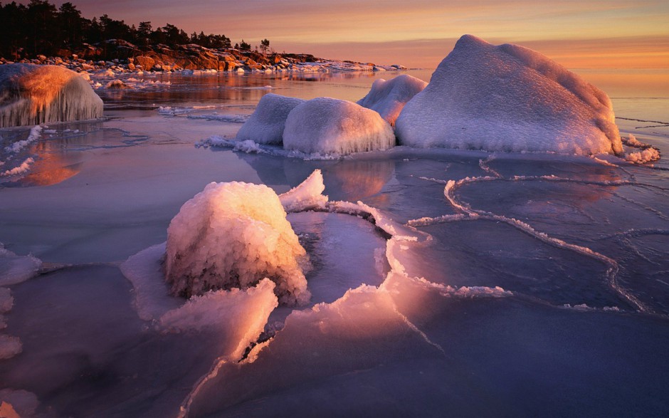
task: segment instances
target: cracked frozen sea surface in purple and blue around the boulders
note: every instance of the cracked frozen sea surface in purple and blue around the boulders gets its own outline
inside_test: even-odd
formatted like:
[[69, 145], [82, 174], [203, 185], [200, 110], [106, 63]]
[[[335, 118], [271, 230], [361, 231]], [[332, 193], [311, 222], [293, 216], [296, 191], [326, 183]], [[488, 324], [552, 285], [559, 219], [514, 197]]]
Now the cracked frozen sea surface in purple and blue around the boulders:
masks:
[[[129, 88], [98, 89], [107, 120], [0, 151], [2, 171], [28, 162], [0, 177], [0, 278], [37, 270], [0, 292], [0, 358], [21, 342], [0, 359], [0, 400], [43, 417], [667, 416], [669, 85], [651, 73], [659, 84], [583, 75], [623, 137], [662, 152], [653, 166], [196, 147], [234, 137], [266, 93], [359, 100], [397, 74], [123, 75]], [[4, 128], [0, 149], [30, 134]], [[209, 182], [283, 193], [315, 169], [330, 201], [374, 210], [288, 216], [314, 266], [310, 305], [244, 302], [204, 331], [140, 318], [126, 276], [160, 280], [186, 200]], [[240, 339], [251, 324], [263, 335]]]

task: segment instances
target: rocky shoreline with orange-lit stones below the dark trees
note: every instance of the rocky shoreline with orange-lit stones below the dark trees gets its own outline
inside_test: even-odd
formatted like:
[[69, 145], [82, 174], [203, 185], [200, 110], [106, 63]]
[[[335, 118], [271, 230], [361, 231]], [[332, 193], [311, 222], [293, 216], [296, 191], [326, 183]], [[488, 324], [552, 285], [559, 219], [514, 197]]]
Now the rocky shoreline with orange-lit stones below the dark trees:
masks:
[[[0, 64], [13, 63], [0, 58]], [[235, 73], [330, 72], [330, 71], [397, 71], [399, 64], [379, 66], [374, 63], [327, 60], [310, 54], [260, 53], [234, 48], [211, 49], [196, 44], [169, 48], [165, 45], [139, 48], [134, 44], [111, 39], [98, 45], [85, 44], [77, 51], [60, 51], [58, 56], [37, 56], [16, 61], [41, 65], [64, 66], [78, 73], [110, 69], [115, 73], [144, 71], [226, 71]]]

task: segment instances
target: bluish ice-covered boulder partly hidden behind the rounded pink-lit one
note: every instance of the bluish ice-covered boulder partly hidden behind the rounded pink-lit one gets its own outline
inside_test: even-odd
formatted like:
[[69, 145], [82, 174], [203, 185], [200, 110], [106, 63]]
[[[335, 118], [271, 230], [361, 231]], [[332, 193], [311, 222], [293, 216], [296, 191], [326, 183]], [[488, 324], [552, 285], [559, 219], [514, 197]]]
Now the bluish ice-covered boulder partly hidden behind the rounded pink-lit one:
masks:
[[237, 132], [237, 137], [240, 140], [253, 140], [258, 144], [280, 144], [283, 141], [283, 128], [288, 113], [302, 103], [305, 100], [273, 93], [264, 95], [258, 102], [256, 111]]

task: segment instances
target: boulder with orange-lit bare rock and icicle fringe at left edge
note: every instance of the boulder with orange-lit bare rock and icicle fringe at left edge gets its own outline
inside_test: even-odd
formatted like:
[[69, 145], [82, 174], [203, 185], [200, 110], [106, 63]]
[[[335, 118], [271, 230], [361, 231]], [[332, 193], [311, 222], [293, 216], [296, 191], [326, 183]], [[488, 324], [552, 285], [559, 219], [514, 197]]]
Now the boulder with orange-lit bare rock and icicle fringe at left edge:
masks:
[[0, 127], [93, 119], [102, 99], [83, 77], [59, 66], [0, 66]]

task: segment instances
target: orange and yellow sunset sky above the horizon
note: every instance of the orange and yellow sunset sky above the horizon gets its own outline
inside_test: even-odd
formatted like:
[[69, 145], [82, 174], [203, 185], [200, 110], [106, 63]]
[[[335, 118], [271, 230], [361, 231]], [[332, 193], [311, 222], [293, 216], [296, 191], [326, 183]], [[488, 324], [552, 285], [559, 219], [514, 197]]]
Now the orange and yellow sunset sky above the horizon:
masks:
[[[669, 68], [668, 0], [70, 0], [88, 19], [166, 23], [278, 52], [435, 68], [465, 33], [567, 68]], [[63, 1], [52, 1], [60, 5]]]

